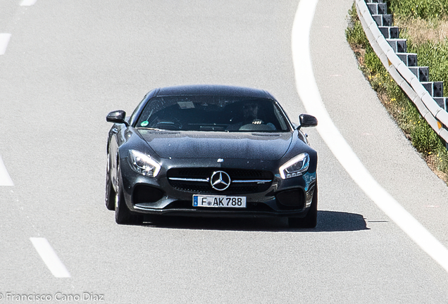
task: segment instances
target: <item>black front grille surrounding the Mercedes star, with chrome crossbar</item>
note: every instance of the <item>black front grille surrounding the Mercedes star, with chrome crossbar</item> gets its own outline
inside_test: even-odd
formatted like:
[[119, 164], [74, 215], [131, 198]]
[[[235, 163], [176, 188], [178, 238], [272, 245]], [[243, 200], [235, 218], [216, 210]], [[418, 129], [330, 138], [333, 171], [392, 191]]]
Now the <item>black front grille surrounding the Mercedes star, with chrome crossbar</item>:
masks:
[[[218, 191], [211, 186], [213, 172], [223, 171], [230, 177], [228, 189]], [[249, 170], [219, 167], [173, 168], [167, 172], [168, 181], [173, 188], [210, 194], [252, 194], [269, 189], [273, 174], [266, 170]]]

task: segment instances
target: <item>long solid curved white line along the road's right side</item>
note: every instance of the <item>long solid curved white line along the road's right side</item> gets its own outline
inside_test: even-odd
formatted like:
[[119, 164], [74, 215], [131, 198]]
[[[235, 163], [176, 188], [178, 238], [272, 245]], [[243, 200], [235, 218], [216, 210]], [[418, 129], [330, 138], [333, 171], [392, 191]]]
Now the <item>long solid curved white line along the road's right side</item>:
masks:
[[333, 124], [323, 105], [309, 51], [309, 35], [317, 3], [318, 0], [300, 0], [292, 25], [292, 59], [299, 96], [306, 110], [318, 118], [319, 134], [354, 182], [423, 251], [448, 272], [447, 248], [375, 181]]

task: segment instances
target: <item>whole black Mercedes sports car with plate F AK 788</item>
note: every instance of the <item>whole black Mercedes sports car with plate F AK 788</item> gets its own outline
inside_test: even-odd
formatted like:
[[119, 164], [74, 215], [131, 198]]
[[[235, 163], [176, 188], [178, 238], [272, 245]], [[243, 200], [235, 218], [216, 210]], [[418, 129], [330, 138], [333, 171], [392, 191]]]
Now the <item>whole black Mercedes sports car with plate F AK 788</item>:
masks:
[[191, 85], [150, 91], [107, 115], [106, 207], [156, 217], [288, 217], [316, 227], [317, 153], [267, 91]]

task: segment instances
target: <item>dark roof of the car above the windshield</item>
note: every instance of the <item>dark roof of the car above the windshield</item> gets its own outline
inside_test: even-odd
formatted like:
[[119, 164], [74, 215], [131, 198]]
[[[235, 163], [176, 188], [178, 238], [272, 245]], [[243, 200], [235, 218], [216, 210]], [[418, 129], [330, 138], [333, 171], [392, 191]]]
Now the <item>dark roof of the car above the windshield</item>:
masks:
[[208, 96], [242, 96], [263, 99], [273, 99], [268, 91], [262, 89], [251, 89], [247, 87], [235, 87], [216, 84], [193, 84], [175, 87], [163, 87], [154, 96], [185, 96], [185, 95], [208, 95]]

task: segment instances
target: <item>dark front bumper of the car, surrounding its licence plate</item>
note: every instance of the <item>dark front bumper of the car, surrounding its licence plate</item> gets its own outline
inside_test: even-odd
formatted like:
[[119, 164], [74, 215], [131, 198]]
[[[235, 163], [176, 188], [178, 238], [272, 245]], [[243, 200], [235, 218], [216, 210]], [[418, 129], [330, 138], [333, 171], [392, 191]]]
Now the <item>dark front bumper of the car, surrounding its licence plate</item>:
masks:
[[[215, 160], [216, 161], [216, 160]], [[316, 172], [306, 172], [299, 177], [281, 179], [273, 174], [273, 180], [265, 189], [256, 193], [216, 192], [207, 195], [245, 196], [246, 208], [194, 207], [193, 196], [201, 191], [175, 189], [168, 182], [167, 168], [162, 167], [157, 177], [147, 177], [134, 172], [126, 159], [120, 165], [123, 195], [132, 213], [149, 215], [173, 215], [192, 217], [304, 217], [309, 210], [316, 184]], [[198, 165], [198, 164], [195, 164]], [[211, 164], [203, 163], [202, 166]], [[213, 163], [212, 165], [216, 165]], [[242, 164], [239, 164], [239, 167]], [[249, 164], [253, 166], [254, 164]], [[266, 167], [266, 164], [264, 164]], [[275, 167], [276, 164], [268, 164]], [[249, 167], [248, 166], [248, 167]], [[226, 170], [226, 168], [222, 168]]]

